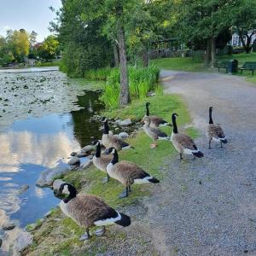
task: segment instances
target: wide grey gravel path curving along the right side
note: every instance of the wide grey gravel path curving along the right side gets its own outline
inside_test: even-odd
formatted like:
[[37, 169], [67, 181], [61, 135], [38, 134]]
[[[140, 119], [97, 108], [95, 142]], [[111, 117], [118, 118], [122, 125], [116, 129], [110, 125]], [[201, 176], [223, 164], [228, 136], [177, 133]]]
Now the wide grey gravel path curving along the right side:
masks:
[[[146, 201], [154, 246], [160, 255], [256, 255], [256, 86], [218, 73], [160, 75], [166, 93], [188, 103], [205, 157], [166, 162], [161, 191]], [[229, 140], [223, 149], [207, 148], [209, 106]]]

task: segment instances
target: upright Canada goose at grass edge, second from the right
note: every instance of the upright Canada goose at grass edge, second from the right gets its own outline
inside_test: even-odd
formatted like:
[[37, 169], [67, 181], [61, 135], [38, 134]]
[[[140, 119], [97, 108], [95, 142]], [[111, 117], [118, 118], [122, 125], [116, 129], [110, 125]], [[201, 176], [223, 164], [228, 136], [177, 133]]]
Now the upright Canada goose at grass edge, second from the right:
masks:
[[173, 131], [171, 136], [171, 141], [174, 146], [174, 148], [177, 149], [177, 152], [179, 152], [179, 157], [182, 160], [183, 154], [192, 154], [196, 157], [203, 157], [204, 154], [201, 153], [201, 151], [196, 147], [195, 142], [191, 139], [191, 137], [177, 132], [177, 123], [176, 123], [176, 117], [177, 113], [172, 113], [172, 125], [173, 125]]

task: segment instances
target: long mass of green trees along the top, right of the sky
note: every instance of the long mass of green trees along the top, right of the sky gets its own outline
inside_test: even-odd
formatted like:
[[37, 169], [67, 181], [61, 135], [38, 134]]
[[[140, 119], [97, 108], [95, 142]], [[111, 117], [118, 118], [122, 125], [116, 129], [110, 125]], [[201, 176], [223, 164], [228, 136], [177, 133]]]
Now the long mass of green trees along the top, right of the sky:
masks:
[[248, 38], [249, 51], [256, 27], [255, 0], [62, 0], [56, 15], [51, 29], [63, 49], [62, 69], [84, 76], [119, 67], [120, 106], [130, 101], [127, 61], [147, 66], [151, 42], [177, 38], [183, 47], [206, 50], [205, 63], [213, 65], [232, 32]]

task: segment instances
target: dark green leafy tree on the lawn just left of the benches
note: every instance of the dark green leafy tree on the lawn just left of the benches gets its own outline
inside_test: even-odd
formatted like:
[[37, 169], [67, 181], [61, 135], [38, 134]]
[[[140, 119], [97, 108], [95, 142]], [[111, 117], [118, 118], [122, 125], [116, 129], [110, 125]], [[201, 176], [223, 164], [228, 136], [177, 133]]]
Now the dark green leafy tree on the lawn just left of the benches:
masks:
[[207, 49], [206, 64], [215, 62], [218, 35], [232, 26], [239, 1], [181, 0], [178, 5], [179, 36], [193, 44], [204, 41]]

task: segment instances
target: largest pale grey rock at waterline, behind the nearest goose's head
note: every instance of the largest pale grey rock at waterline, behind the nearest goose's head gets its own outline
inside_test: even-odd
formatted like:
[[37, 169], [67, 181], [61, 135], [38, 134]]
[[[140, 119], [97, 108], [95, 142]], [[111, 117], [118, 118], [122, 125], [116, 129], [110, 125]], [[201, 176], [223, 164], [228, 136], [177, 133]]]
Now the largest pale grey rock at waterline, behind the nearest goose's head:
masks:
[[50, 186], [55, 176], [64, 174], [68, 171], [70, 171], [70, 167], [63, 163], [59, 164], [58, 166], [55, 166], [54, 168], [46, 169], [43, 172], [41, 172], [40, 176], [38, 177], [36, 185], [38, 187]]

